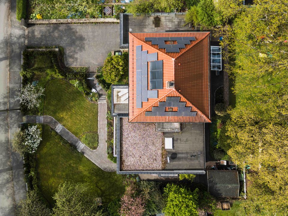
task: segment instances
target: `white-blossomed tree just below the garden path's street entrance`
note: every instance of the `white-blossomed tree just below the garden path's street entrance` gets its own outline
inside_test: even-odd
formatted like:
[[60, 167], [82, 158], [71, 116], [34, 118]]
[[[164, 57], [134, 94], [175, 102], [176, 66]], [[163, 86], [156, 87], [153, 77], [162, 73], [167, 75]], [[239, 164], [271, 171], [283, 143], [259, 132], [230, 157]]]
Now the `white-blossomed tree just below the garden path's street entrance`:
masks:
[[23, 145], [27, 147], [29, 153], [36, 152], [42, 138], [41, 138], [41, 131], [36, 125], [29, 126], [25, 132], [25, 141]]

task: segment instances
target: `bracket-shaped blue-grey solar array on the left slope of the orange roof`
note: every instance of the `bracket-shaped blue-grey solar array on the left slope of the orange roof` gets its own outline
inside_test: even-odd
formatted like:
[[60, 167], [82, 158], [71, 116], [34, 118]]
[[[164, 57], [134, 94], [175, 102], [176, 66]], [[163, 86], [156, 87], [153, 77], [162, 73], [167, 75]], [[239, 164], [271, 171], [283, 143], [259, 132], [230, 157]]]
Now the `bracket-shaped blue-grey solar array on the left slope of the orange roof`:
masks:
[[[158, 91], [148, 91], [148, 61], [157, 61], [158, 53], [142, 51], [142, 45], [136, 46], [136, 107], [142, 108], [142, 102], [148, 98], [158, 98]], [[162, 65], [161, 65], [162, 66]], [[162, 86], [163, 88], [163, 86]]]

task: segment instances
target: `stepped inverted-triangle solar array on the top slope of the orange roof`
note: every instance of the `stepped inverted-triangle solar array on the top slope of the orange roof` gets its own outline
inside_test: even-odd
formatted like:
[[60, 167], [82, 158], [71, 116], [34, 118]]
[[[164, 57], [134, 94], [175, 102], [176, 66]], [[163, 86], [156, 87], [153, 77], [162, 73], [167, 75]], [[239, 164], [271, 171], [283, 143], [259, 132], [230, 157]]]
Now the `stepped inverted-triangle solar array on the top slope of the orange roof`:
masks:
[[[179, 49], [185, 48], [185, 44], [191, 44], [190, 41], [196, 41], [195, 37], [150, 37], [145, 41], [152, 41], [153, 45], [158, 45], [159, 49], [165, 49], [166, 52], [180, 52]], [[177, 44], [165, 44], [165, 41], [177, 41]]]

